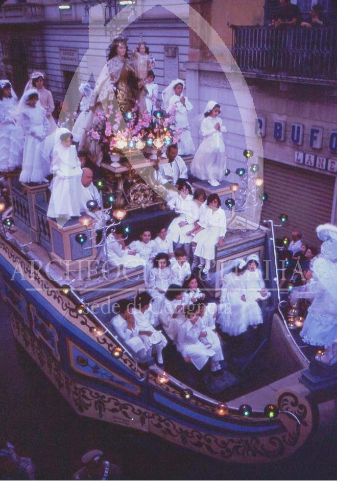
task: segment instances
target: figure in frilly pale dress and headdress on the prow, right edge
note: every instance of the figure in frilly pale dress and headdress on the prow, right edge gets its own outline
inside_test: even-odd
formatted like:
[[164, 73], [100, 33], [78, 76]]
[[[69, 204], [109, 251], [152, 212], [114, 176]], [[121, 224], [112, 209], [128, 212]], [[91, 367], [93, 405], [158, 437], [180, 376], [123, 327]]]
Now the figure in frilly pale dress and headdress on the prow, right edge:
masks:
[[291, 300], [312, 301], [301, 331], [304, 342], [325, 348], [316, 360], [322, 364], [337, 363], [337, 227], [322, 224], [316, 233], [323, 244], [321, 254], [311, 260], [312, 278], [307, 284], [295, 287]]

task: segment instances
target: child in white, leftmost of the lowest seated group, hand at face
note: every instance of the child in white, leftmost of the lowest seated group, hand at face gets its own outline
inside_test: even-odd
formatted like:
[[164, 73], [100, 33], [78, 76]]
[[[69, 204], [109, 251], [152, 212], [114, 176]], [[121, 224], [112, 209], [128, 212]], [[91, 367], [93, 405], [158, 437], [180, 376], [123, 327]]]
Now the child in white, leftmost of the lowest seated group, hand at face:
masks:
[[144, 357], [146, 355], [145, 345], [138, 335], [133, 315], [133, 303], [128, 299], [120, 299], [115, 304], [115, 311], [117, 314], [109, 324], [127, 346], [131, 347], [139, 357]]

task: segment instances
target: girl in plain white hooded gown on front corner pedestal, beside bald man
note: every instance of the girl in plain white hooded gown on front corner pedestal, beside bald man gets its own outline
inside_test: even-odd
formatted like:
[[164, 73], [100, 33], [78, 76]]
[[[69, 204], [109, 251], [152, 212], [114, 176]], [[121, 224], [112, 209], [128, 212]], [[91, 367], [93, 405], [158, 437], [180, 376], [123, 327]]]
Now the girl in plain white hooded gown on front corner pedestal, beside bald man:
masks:
[[77, 157], [76, 147], [71, 145], [70, 130], [62, 127], [55, 135], [53, 150], [52, 196], [47, 217], [53, 219], [80, 216], [81, 197], [81, 163]]

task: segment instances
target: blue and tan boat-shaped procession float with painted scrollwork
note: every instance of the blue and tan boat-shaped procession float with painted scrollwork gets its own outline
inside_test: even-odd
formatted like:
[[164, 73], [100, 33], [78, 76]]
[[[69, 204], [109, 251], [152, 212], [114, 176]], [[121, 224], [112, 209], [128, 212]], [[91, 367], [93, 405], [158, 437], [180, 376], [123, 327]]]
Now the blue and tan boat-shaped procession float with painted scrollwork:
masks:
[[[127, 276], [111, 267], [104, 276], [76, 271], [79, 260], [97, 254], [90, 235], [84, 245], [74, 241], [83, 224], [74, 221], [58, 229], [45, 215], [46, 185], [19, 187], [14, 174], [8, 181], [15, 229], [3, 227], [0, 237], [2, 298], [10, 306], [16, 340], [78, 415], [148, 432], [234, 463], [286, 458], [330, 422], [326, 405], [333, 398], [327, 392], [324, 399], [313, 397], [300, 382], [308, 362], [273, 314], [272, 301], [261, 345], [277, 358], [279, 372], [266, 386], [260, 387], [257, 379], [258, 389], [219, 399], [198, 392], [154, 362], [140, 362], [107, 321], [113, 302], [144, 290], [142, 270], [130, 269]], [[224, 248], [218, 248], [215, 269], [256, 253], [271, 260], [267, 265], [274, 279], [271, 232], [257, 225], [247, 229], [247, 220], [240, 222], [234, 219]], [[68, 267], [65, 258], [70, 259]], [[64, 280], [66, 268], [72, 282]]]

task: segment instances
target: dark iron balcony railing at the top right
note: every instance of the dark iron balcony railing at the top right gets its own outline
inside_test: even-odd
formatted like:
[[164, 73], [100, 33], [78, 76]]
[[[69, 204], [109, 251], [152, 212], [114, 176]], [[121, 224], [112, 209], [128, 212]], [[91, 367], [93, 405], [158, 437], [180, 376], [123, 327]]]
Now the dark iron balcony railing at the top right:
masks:
[[231, 28], [232, 55], [245, 77], [337, 85], [337, 28]]

